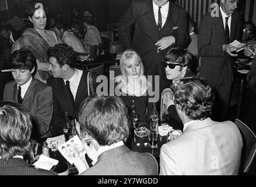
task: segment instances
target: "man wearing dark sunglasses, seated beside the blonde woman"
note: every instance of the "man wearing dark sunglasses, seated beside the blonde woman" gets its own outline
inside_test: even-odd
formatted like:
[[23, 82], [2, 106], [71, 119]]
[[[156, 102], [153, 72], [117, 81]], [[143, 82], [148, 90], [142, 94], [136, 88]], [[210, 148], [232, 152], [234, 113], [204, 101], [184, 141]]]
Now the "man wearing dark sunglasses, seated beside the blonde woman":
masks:
[[170, 85], [182, 78], [196, 76], [190, 71], [191, 60], [192, 56], [187, 50], [173, 47], [166, 53], [162, 61], [162, 69], [165, 70], [166, 78], [170, 80], [170, 84], [161, 94], [161, 115], [166, 110], [168, 111], [168, 122], [172, 124], [173, 129], [182, 130], [183, 124], [176, 112]]

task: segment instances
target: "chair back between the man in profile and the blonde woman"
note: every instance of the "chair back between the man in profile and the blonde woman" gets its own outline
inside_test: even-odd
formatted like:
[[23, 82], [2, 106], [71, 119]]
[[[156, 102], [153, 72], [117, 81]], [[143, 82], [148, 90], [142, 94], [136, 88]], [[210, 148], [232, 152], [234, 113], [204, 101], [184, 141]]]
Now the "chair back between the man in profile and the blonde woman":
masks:
[[99, 67], [92, 68], [88, 70], [87, 74], [87, 90], [88, 95], [96, 93], [97, 86], [100, 84], [96, 82], [98, 75], [104, 74], [104, 65], [100, 65]]

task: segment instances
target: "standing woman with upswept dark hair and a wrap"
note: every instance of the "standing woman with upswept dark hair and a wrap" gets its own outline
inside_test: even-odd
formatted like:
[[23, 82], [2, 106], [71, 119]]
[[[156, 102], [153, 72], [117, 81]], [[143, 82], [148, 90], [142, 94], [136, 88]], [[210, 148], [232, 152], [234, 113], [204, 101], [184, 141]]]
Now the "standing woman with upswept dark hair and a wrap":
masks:
[[46, 51], [57, 43], [63, 43], [52, 30], [46, 30], [46, 13], [42, 4], [32, 3], [28, 6], [29, 20], [33, 23], [33, 29], [28, 28], [22, 33], [22, 37], [15, 41], [12, 52], [27, 48], [32, 51], [37, 59], [37, 72], [35, 78], [46, 83], [46, 79], [52, 75], [49, 71], [49, 60]]

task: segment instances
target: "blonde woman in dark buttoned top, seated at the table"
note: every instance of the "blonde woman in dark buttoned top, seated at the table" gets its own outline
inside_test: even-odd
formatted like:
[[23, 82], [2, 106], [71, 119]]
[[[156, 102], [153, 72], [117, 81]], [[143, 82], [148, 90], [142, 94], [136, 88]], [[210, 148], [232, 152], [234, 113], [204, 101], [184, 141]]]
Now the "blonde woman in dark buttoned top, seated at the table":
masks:
[[144, 75], [144, 65], [139, 54], [132, 49], [125, 50], [121, 54], [120, 70], [122, 75], [115, 78], [120, 92], [116, 91], [115, 94], [124, 101], [129, 113], [135, 109], [141, 122], [148, 120], [147, 113], [152, 107], [152, 103], [148, 102], [148, 88], [152, 85]]

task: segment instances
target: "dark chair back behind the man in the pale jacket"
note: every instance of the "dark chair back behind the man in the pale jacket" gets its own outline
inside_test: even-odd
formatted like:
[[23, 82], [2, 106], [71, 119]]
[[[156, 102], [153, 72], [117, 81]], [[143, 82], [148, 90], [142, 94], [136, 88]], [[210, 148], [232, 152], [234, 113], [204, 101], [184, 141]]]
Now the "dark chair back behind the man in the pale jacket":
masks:
[[240, 171], [247, 173], [250, 171], [252, 162], [254, 162], [256, 157], [256, 136], [251, 129], [239, 119], [235, 119], [234, 123], [243, 137]]

